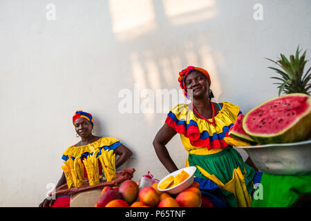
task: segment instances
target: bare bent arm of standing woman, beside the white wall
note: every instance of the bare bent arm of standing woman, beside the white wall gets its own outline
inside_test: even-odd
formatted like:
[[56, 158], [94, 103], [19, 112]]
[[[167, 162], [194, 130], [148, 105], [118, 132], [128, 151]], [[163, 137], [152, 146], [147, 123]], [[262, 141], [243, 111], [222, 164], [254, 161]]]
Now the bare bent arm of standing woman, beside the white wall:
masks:
[[169, 125], [164, 124], [153, 140], [153, 147], [156, 151], [156, 154], [158, 155], [160, 162], [162, 162], [163, 166], [167, 169], [167, 171], [169, 171], [169, 173], [178, 170], [176, 164], [173, 162], [173, 160], [171, 160], [169, 151], [167, 151], [167, 147], [165, 146], [175, 135], [176, 131], [173, 130], [173, 128], [171, 128]]

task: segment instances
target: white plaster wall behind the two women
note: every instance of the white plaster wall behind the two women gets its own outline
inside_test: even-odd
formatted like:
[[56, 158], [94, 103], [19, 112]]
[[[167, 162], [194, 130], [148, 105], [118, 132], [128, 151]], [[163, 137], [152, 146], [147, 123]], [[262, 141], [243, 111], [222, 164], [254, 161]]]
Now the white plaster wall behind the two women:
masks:
[[[48, 3], [55, 20], [46, 19]], [[262, 21], [254, 20], [256, 3]], [[71, 122], [77, 110], [93, 114], [95, 135], [131, 148], [124, 167], [136, 169], [135, 180], [147, 171], [163, 177], [152, 141], [167, 113], [121, 114], [120, 90], [178, 89], [178, 72], [201, 66], [216, 101], [246, 113], [277, 96], [264, 57], [300, 45], [310, 59], [310, 12], [308, 0], [1, 0], [0, 206], [44, 199], [46, 184], [62, 173], [62, 153], [79, 141]], [[178, 136], [167, 148], [185, 166]]]

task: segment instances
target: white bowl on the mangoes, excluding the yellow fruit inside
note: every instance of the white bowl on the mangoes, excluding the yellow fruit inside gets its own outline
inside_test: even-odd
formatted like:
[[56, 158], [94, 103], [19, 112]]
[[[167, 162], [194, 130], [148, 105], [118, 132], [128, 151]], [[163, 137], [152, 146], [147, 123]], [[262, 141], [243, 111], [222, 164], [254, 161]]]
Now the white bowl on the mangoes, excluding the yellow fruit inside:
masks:
[[[170, 175], [175, 177], [181, 171], [185, 171], [185, 172], [187, 172], [189, 174], [189, 177], [186, 180], [184, 180], [180, 184], [177, 184], [176, 186], [172, 186], [171, 188], [168, 188], [168, 189], [160, 189], [159, 188], [160, 184], [165, 179], [167, 179], [167, 177], [169, 177]], [[167, 193], [171, 193], [171, 194], [180, 193], [181, 191], [183, 191], [183, 190], [187, 189], [189, 186], [191, 186], [191, 184], [194, 182], [194, 173], [195, 172], [196, 172], [196, 166], [188, 166], [188, 167], [179, 169], [178, 171], [174, 171], [173, 173], [169, 173], [169, 175], [165, 176], [164, 178], [162, 178], [162, 180], [160, 180], [160, 182], [158, 184], [158, 190], [159, 191], [164, 191], [164, 192], [167, 192]]]

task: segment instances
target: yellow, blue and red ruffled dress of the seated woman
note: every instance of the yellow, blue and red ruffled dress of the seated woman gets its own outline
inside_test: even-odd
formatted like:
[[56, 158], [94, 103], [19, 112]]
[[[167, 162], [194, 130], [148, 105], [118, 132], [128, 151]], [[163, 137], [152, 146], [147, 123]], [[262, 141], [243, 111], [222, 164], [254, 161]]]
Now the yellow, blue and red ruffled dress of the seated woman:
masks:
[[[73, 160], [75, 160], [76, 157], [80, 157], [83, 161], [88, 155], [92, 155], [92, 153], [100, 149], [100, 152], [97, 153], [97, 156], [99, 156], [102, 151], [106, 150], [115, 150], [118, 146], [120, 146], [122, 143], [117, 140], [114, 137], [101, 137], [99, 140], [87, 144], [84, 146], [69, 146], [66, 151], [62, 155], [62, 160], [65, 162], [68, 160], [69, 156], [72, 157]], [[100, 165], [100, 163], [99, 163]], [[99, 166], [100, 168], [100, 175], [102, 174], [102, 166]], [[84, 168], [84, 177], [87, 177], [86, 170]], [[70, 198], [71, 195], [62, 195], [56, 198], [53, 207], [69, 207], [70, 206]]]

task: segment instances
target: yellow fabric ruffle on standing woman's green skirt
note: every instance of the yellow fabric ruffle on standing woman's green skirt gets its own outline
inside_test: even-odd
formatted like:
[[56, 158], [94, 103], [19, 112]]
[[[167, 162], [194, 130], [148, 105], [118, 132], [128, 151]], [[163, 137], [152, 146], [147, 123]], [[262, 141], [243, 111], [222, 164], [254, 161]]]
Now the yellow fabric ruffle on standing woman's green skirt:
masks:
[[225, 191], [229, 191], [230, 193], [234, 193], [236, 197], [238, 207], [251, 207], [252, 206], [252, 196], [247, 192], [247, 188], [245, 185], [245, 179], [241, 172], [240, 167], [234, 169], [232, 174], [232, 180], [227, 182], [227, 184], [223, 184], [216, 175], [211, 175], [202, 167], [196, 165], [196, 167], [200, 170], [202, 175], [205, 175], [209, 180], [216, 183], [221, 189]]

